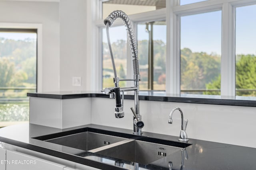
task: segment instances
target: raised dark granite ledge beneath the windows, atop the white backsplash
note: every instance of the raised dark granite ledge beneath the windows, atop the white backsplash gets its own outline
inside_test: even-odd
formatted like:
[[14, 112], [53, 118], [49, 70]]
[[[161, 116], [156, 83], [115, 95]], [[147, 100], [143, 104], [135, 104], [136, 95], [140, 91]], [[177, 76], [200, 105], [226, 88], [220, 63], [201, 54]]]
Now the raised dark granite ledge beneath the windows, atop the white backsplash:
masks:
[[[42, 93], [28, 93], [29, 97], [52, 98], [52, 99], [72, 99], [72, 98], [109, 98], [109, 95], [103, 92], [42, 92]], [[134, 99], [132, 92], [126, 92], [124, 99]], [[189, 94], [166, 94], [164, 92], [140, 92], [139, 100], [158, 101], [158, 102], [182, 102], [182, 103], [197, 103], [197, 104], [217, 104], [229, 106], [252, 106], [256, 107], [256, 97], [242, 97], [236, 98], [228, 96], [217, 95], [189, 95]]]

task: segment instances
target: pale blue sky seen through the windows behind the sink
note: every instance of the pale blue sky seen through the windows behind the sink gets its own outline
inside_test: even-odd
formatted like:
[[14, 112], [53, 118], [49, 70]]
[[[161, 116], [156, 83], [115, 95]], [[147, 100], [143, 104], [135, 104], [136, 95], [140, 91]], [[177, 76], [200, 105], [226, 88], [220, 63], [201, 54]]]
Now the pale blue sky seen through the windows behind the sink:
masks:
[[[204, 0], [181, 0], [186, 2], [200, 2]], [[256, 55], [256, 5], [236, 8], [236, 54]], [[206, 52], [221, 55], [222, 12], [208, 12], [181, 17], [181, 42], [180, 47], [189, 48], [192, 52]], [[196, 23], [196, 24], [195, 24]], [[103, 31], [103, 35], [105, 33]], [[166, 27], [154, 27], [154, 39], [161, 39], [166, 43]], [[111, 42], [117, 39], [126, 39], [125, 26], [110, 27]], [[145, 25], [138, 24], [138, 40], [148, 39]], [[103, 41], [106, 38], [103, 37]]]

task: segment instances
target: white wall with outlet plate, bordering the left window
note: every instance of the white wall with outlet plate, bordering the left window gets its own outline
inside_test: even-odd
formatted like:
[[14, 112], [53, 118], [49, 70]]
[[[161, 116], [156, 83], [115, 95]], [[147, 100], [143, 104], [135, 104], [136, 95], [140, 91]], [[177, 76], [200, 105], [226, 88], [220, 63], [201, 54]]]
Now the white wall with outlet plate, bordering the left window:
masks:
[[[42, 24], [41, 92], [86, 90], [86, 0], [0, 0], [0, 23]], [[1, 24], [0, 24], [1, 25]], [[40, 52], [40, 51], [39, 51]], [[39, 61], [39, 59], [38, 59]], [[72, 77], [82, 86], [72, 86]]]

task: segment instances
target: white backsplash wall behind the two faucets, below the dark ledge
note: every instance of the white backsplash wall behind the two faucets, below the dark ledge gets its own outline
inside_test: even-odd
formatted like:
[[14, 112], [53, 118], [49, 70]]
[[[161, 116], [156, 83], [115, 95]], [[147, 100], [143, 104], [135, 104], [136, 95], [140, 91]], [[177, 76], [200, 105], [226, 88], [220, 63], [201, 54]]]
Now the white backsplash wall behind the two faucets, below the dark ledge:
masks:
[[[134, 107], [134, 101], [124, 100], [125, 116], [121, 119], [115, 118], [114, 106], [113, 99], [92, 98], [92, 123], [132, 131], [130, 107]], [[168, 124], [170, 111], [175, 107], [180, 107], [184, 119], [188, 119], [188, 138], [256, 148], [255, 107], [140, 101], [140, 113], [145, 124], [143, 131], [178, 138], [181, 129], [179, 111], [173, 114], [173, 124]]]

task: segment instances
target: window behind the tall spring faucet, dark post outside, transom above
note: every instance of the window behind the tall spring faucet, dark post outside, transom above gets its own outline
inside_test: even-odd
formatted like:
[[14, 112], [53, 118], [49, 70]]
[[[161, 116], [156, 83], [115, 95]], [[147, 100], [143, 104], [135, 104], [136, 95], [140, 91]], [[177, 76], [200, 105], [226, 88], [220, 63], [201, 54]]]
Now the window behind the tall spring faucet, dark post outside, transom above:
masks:
[[[106, 18], [113, 10], [122, 10], [127, 15], [138, 14], [145, 11], [158, 10], [165, 8], [165, 0], [110, 0], [102, 3], [103, 18]], [[113, 8], [114, 7], [114, 8]], [[131, 7], [131, 8], [130, 8]], [[138, 8], [137, 8], [138, 7]], [[150, 7], [150, 8], [149, 8]], [[131, 10], [132, 9], [132, 10]], [[144, 10], [145, 9], [145, 10]], [[106, 12], [107, 11], [107, 12]], [[106, 14], [105, 14], [106, 13]], [[146, 19], [146, 18], [144, 18]], [[118, 19], [119, 20], [119, 19]], [[166, 22], [151, 21], [150, 23], [132, 23], [136, 28], [138, 43], [138, 57], [140, 60], [140, 90], [165, 90], [165, 61], [166, 61]], [[146, 27], [148, 28], [146, 30]], [[111, 31], [112, 30], [112, 31]], [[146, 30], [146, 31], [145, 31]], [[106, 29], [102, 29], [102, 87], [113, 86], [113, 67], [108, 51], [106, 41]], [[134, 31], [134, 32], [136, 32]], [[127, 31], [124, 25], [110, 27], [110, 40], [117, 68], [117, 74], [120, 78], [132, 78], [130, 72], [127, 72], [127, 64], [131, 61], [130, 50], [127, 47]], [[152, 42], [152, 43], [151, 43]], [[118, 48], [116, 48], [118, 47]], [[149, 53], [149, 47], [152, 49]], [[140, 52], [141, 51], [141, 52]], [[150, 64], [148, 64], [150, 60]], [[120, 68], [118, 68], [120, 67]], [[130, 65], [128, 67], [131, 68]], [[118, 69], [119, 70], [118, 72]], [[150, 70], [150, 71], [148, 71]], [[129, 70], [128, 70], [129, 71]], [[150, 78], [149, 78], [150, 77]], [[127, 82], [121, 81], [120, 86], [126, 86]]]

